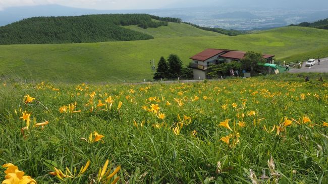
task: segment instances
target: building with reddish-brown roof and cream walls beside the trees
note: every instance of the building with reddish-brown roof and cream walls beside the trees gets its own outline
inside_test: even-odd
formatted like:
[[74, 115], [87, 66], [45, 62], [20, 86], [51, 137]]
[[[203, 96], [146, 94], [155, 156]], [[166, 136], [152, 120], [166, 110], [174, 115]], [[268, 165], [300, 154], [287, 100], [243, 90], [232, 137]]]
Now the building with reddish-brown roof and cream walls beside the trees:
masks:
[[[194, 79], [206, 79], [207, 69], [211, 65], [218, 65], [222, 63], [240, 62], [245, 56], [244, 51], [228, 50], [228, 49], [213, 49], [208, 48], [192, 57], [190, 67], [194, 72]], [[271, 64], [272, 58], [275, 55], [263, 54], [263, 58], [266, 59], [266, 63]]]

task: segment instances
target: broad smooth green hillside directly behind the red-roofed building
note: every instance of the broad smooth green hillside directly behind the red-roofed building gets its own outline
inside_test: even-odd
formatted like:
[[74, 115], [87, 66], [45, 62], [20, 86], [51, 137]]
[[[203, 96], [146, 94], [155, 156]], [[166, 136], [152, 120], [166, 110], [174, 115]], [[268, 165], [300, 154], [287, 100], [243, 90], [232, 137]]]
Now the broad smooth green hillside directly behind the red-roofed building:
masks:
[[74, 83], [143, 81], [152, 78], [149, 60], [158, 60], [170, 53], [178, 54], [185, 64], [190, 62], [190, 56], [206, 48], [254, 50], [275, 54], [276, 60], [301, 59], [308, 53], [315, 56], [328, 53], [327, 42], [327, 30], [285, 27], [234, 37], [181, 36], [126, 42], [1, 45], [0, 75], [28, 81]]

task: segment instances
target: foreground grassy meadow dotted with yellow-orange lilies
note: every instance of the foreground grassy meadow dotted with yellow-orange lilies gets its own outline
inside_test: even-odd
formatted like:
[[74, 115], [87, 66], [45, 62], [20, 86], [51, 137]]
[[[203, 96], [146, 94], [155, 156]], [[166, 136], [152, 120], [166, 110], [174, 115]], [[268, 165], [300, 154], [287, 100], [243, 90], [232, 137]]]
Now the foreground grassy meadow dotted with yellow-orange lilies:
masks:
[[2, 81], [0, 163], [37, 183], [328, 183], [328, 77], [314, 79]]

